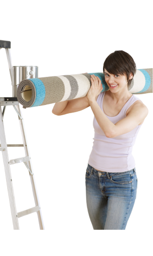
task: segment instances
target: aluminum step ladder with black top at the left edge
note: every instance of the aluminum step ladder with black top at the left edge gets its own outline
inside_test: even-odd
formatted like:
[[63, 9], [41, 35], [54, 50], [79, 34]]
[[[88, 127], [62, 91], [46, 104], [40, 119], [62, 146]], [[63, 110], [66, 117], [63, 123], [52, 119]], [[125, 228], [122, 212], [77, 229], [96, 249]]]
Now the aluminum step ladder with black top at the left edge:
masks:
[[[39, 194], [38, 194], [38, 188], [30, 153], [30, 147], [28, 142], [28, 136], [27, 131], [25, 128], [24, 118], [22, 111], [19, 107], [19, 102], [17, 101], [17, 67], [20, 66], [13, 66], [12, 65], [12, 55], [11, 55], [11, 41], [7, 40], [0, 40], [0, 52], [2, 49], [5, 49], [6, 55], [7, 55], [7, 61], [8, 61], [8, 67], [9, 67], [9, 74], [11, 79], [11, 86], [12, 86], [12, 97], [1, 97], [0, 96], [0, 151], [2, 153], [2, 159], [3, 159], [3, 165], [4, 165], [4, 172], [5, 172], [5, 178], [6, 178], [6, 185], [7, 185], [7, 193], [8, 193], [8, 199], [9, 199], [9, 205], [10, 205], [10, 211], [11, 211], [11, 219], [12, 219], [12, 225], [13, 230], [20, 230], [20, 224], [19, 219], [28, 216], [33, 213], [37, 213], [37, 219], [38, 219], [38, 225], [39, 230], [45, 230], [44, 222], [43, 222], [43, 215], [39, 200]], [[28, 67], [28, 66], [27, 66]], [[38, 67], [38, 66], [37, 66]], [[33, 77], [35, 78], [35, 77]], [[20, 81], [19, 81], [20, 82]], [[2, 110], [3, 106], [3, 110]], [[13, 106], [13, 109], [15, 110], [17, 116], [18, 116], [18, 122], [22, 137], [22, 143], [15, 143], [15, 144], [8, 144], [6, 140], [6, 133], [5, 133], [5, 125], [4, 125], [4, 116], [6, 113], [7, 106]], [[9, 158], [9, 151], [8, 147], [24, 147], [24, 153], [25, 156], [10, 159]], [[16, 199], [15, 199], [15, 191], [14, 191], [14, 185], [13, 185], [13, 178], [12, 178], [12, 170], [11, 165], [23, 163], [24, 166], [28, 169], [30, 183], [32, 187], [32, 193], [33, 193], [33, 199], [35, 206], [17, 211], [17, 205], [16, 205]]]

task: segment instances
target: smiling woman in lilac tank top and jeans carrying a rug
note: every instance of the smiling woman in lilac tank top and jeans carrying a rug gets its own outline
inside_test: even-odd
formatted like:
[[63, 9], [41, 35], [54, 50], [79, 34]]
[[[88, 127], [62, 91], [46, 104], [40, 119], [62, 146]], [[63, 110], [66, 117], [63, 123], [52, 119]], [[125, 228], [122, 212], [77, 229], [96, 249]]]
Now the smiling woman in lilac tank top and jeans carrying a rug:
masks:
[[129, 53], [111, 53], [103, 72], [109, 91], [101, 93], [100, 79], [91, 76], [87, 94], [94, 138], [85, 174], [86, 203], [94, 230], [125, 230], [137, 198], [133, 146], [148, 108], [129, 92], [136, 73]]

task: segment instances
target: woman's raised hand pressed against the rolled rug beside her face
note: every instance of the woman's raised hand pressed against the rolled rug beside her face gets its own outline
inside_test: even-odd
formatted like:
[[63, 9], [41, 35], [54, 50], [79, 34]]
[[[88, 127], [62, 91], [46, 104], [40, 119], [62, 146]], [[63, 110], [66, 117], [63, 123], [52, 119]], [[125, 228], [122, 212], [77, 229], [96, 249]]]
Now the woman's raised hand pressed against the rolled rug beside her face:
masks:
[[101, 83], [101, 80], [98, 76], [91, 75], [91, 87], [87, 93], [87, 99], [93, 100], [100, 94], [100, 92], [103, 90], [103, 86]]

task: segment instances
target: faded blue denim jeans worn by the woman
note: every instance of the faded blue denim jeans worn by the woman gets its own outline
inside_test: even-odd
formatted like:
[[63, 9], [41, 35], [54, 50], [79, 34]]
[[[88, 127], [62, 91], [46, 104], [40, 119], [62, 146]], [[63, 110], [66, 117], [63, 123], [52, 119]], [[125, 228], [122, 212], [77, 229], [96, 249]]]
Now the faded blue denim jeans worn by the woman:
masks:
[[106, 173], [88, 164], [85, 181], [93, 230], [126, 230], [137, 198], [136, 168], [124, 173]]

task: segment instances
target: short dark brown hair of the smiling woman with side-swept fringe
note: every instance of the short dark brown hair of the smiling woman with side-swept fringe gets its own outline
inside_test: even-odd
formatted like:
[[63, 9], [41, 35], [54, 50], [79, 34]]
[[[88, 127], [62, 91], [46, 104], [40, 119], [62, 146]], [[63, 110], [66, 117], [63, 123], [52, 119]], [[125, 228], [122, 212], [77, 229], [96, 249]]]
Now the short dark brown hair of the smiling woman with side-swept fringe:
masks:
[[123, 50], [116, 50], [112, 52], [104, 61], [103, 64], [103, 72], [105, 69], [113, 75], [126, 75], [127, 78], [127, 88], [130, 90], [130, 85], [133, 80], [130, 79], [130, 74], [134, 75], [137, 71], [136, 62], [134, 61], [133, 57]]

